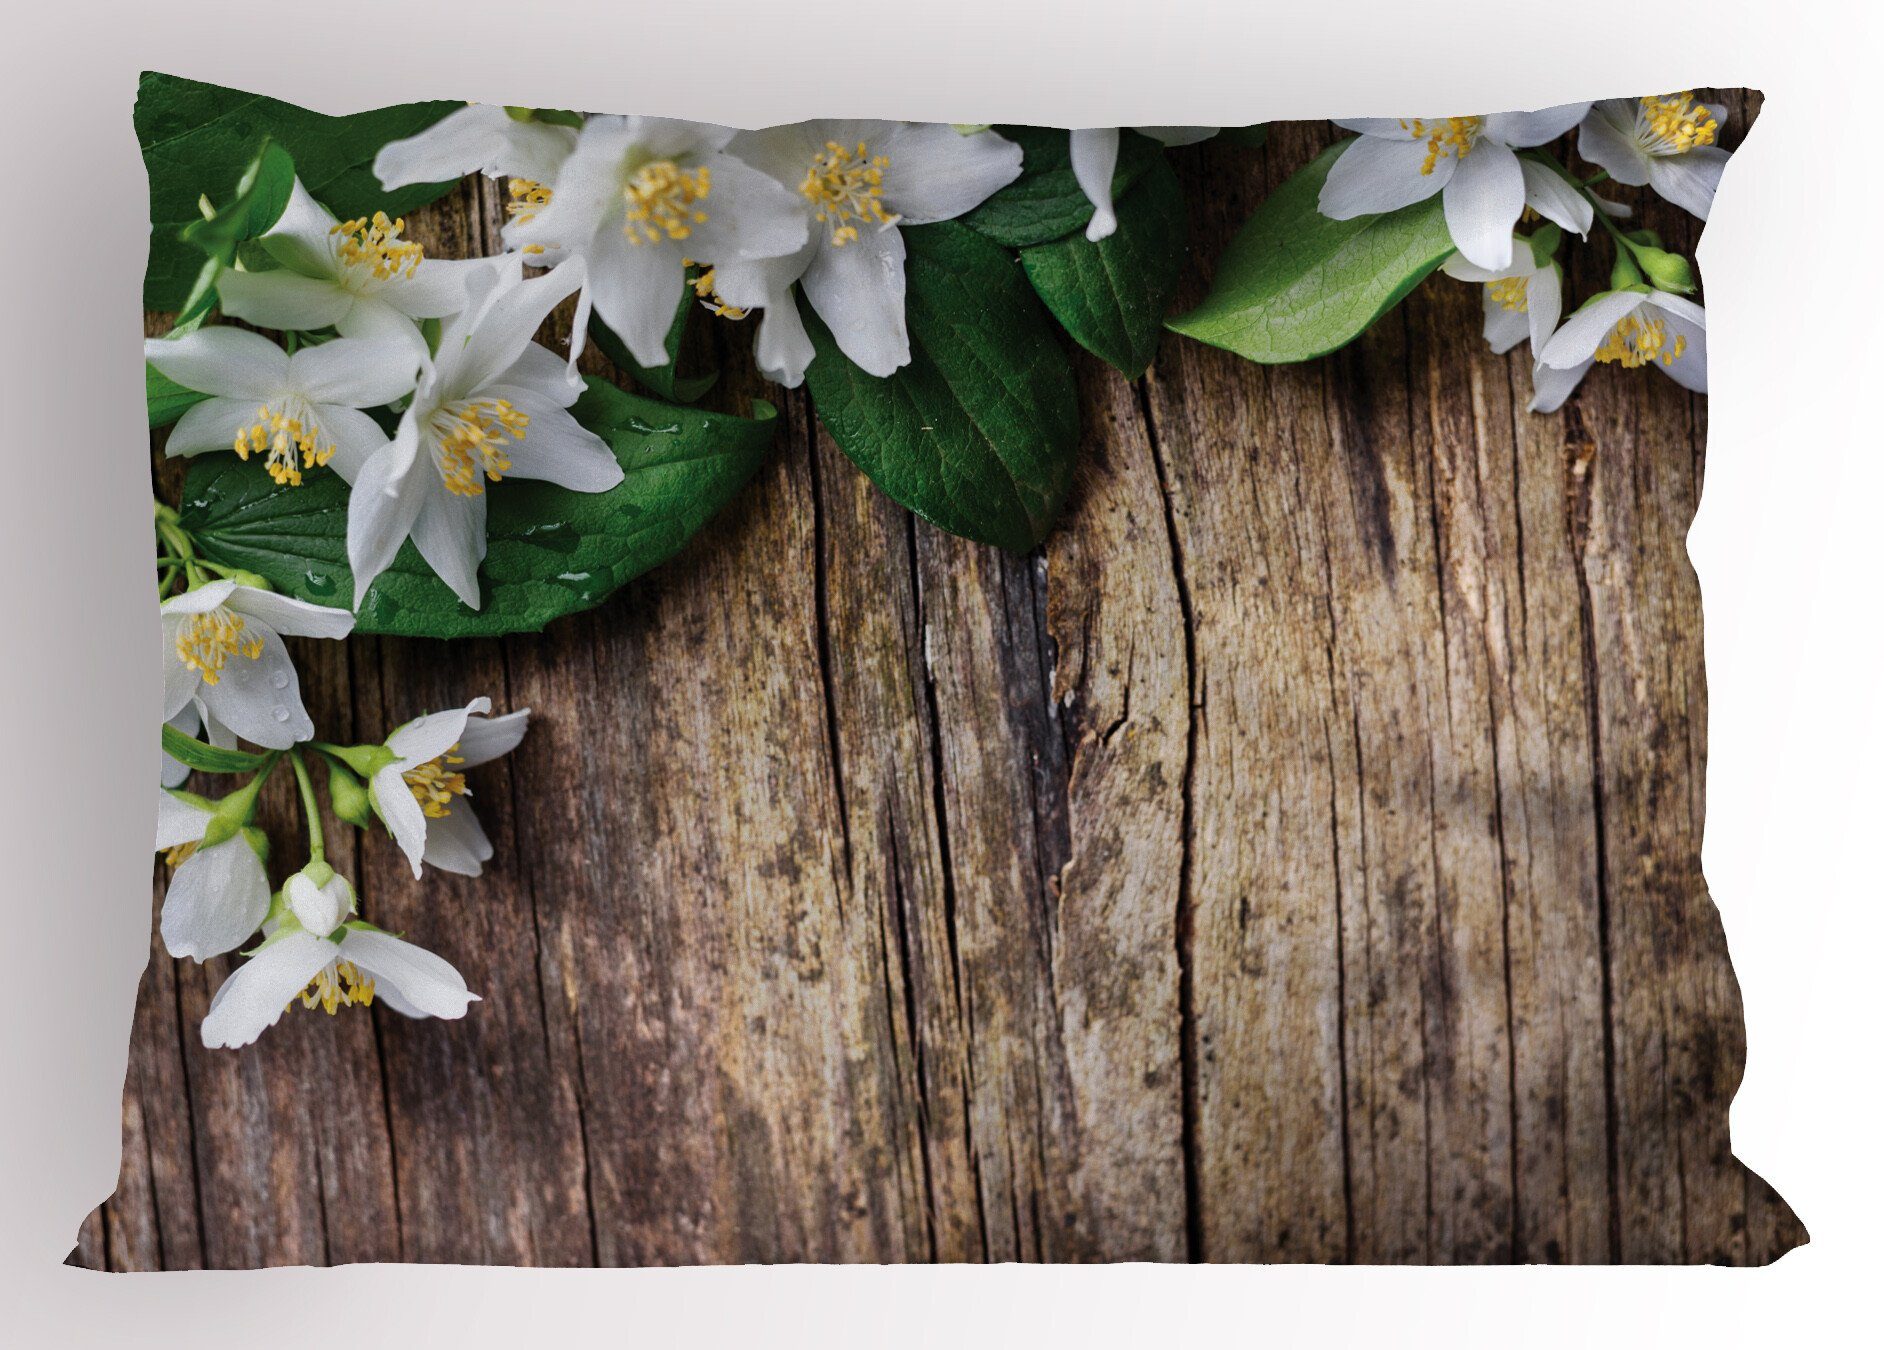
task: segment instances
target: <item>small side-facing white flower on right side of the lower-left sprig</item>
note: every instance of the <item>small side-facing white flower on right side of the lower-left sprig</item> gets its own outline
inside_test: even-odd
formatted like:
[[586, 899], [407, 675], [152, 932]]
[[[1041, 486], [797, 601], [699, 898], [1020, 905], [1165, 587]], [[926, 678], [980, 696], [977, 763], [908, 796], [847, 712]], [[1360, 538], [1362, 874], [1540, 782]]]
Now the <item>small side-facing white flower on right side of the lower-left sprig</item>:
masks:
[[475, 877], [492, 847], [479, 825], [465, 770], [509, 755], [529, 729], [529, 708], [488, 717], [490, 699], [433, 712], [386, 738], [392, 759], [373, 770], [369, 791], [379, 819], [405, 849], [413, 876], [430, 862], [443, 872]]

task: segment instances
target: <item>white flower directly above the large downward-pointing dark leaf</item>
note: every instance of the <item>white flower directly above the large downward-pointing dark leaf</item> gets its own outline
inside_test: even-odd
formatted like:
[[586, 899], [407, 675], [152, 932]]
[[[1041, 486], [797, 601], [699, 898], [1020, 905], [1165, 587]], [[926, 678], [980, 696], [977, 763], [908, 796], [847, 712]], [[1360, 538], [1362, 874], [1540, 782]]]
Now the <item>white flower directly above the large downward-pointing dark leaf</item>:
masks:
[[844, 356], [889, 375], [910, 362], [897, 226], [951, 220], [1021, 173], [1014, 141], [940, 122], [793, 122], [740, 132], [727, 153], [791, 190], [806, 237], [780, 258], [722, 260], [701, 277], [701, 290], [718, 292], [722, 307], [765, 311], [759, 369], [788, 386], [812, 360], [793, 282]]

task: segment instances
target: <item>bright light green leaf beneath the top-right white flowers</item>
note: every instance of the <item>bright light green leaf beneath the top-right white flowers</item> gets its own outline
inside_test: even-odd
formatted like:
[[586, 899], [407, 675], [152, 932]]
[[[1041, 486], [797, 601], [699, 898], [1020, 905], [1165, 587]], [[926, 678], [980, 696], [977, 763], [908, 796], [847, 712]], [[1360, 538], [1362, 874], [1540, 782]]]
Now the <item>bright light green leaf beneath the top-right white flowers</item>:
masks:
[[1453, 252], [1439, 196], [1330, 220], [1317, 209], [1341, 141], [1272, 192], [1230, 241], [1204, 303], [1170, 328], [1251, 362], [1306, 362], [1345, 346]]

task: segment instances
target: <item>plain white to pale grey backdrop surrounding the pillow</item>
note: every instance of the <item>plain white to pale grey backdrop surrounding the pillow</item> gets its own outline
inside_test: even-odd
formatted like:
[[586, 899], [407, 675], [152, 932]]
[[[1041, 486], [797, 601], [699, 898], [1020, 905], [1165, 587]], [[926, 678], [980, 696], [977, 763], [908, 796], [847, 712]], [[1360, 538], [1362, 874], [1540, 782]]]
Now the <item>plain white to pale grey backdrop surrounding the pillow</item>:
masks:
[[[1856, 1337], [1884, 1205], [1873, 1039], [1884, 463], [1861, 420], [1880, 382], [1884, 205], [1878, 105], [1863, 92], [1884, 53], [1867, 8], [57, 0], [11, 15], [0, 40], [13, 252], [0, 282], [9, 1329], [55, 1346]], [[147, 951], [158, 678], [136, 348], [141, 68], [330, 113], [479, 98], [739, 124], [1242, 124], [1763, 88], [1701, 247], [1716, 394], [1690, 542], [1711, 685], [1705, 866], [1748, 1021], [1733, 1147], [1794, 1203], [1812, 1245], [1754, 1273], [384, 1265], [106, 1278], [58, 1267], [117, 1177]]]

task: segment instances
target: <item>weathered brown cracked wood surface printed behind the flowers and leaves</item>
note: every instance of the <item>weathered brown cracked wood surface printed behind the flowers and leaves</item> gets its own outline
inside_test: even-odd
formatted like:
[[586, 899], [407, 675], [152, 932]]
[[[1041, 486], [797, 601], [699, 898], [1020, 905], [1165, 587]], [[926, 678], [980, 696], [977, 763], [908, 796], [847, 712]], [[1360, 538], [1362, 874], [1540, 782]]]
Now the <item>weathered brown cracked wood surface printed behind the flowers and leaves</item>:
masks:
[[[1328, 136], [1176, 156], [1187, 299]], [[488, 250], [495, 209], [467, 186], [414, 230]], [[122, 1179], [73, 1260], [1801, 1243], [1728, 1149], [1682, 546], [1707, 405], [1600, 367], [1530, 416], [1522, 352], [1477, 329], [1475, 288], [1436, 281], [1307, 365], [1176, 337], [1136, 384], [1080, 360], [1078, 490], [1031, 557], [914, 522], [788, 395], [761, 478], [599, 610], [300, 644], [335, 740], [479, 693], [535, 710], [473, 781], [484, 879], [414, 883], [330, 825], [367, 915], [484, 1002], [205, 1051], [228, 962], [153, 945]]]

